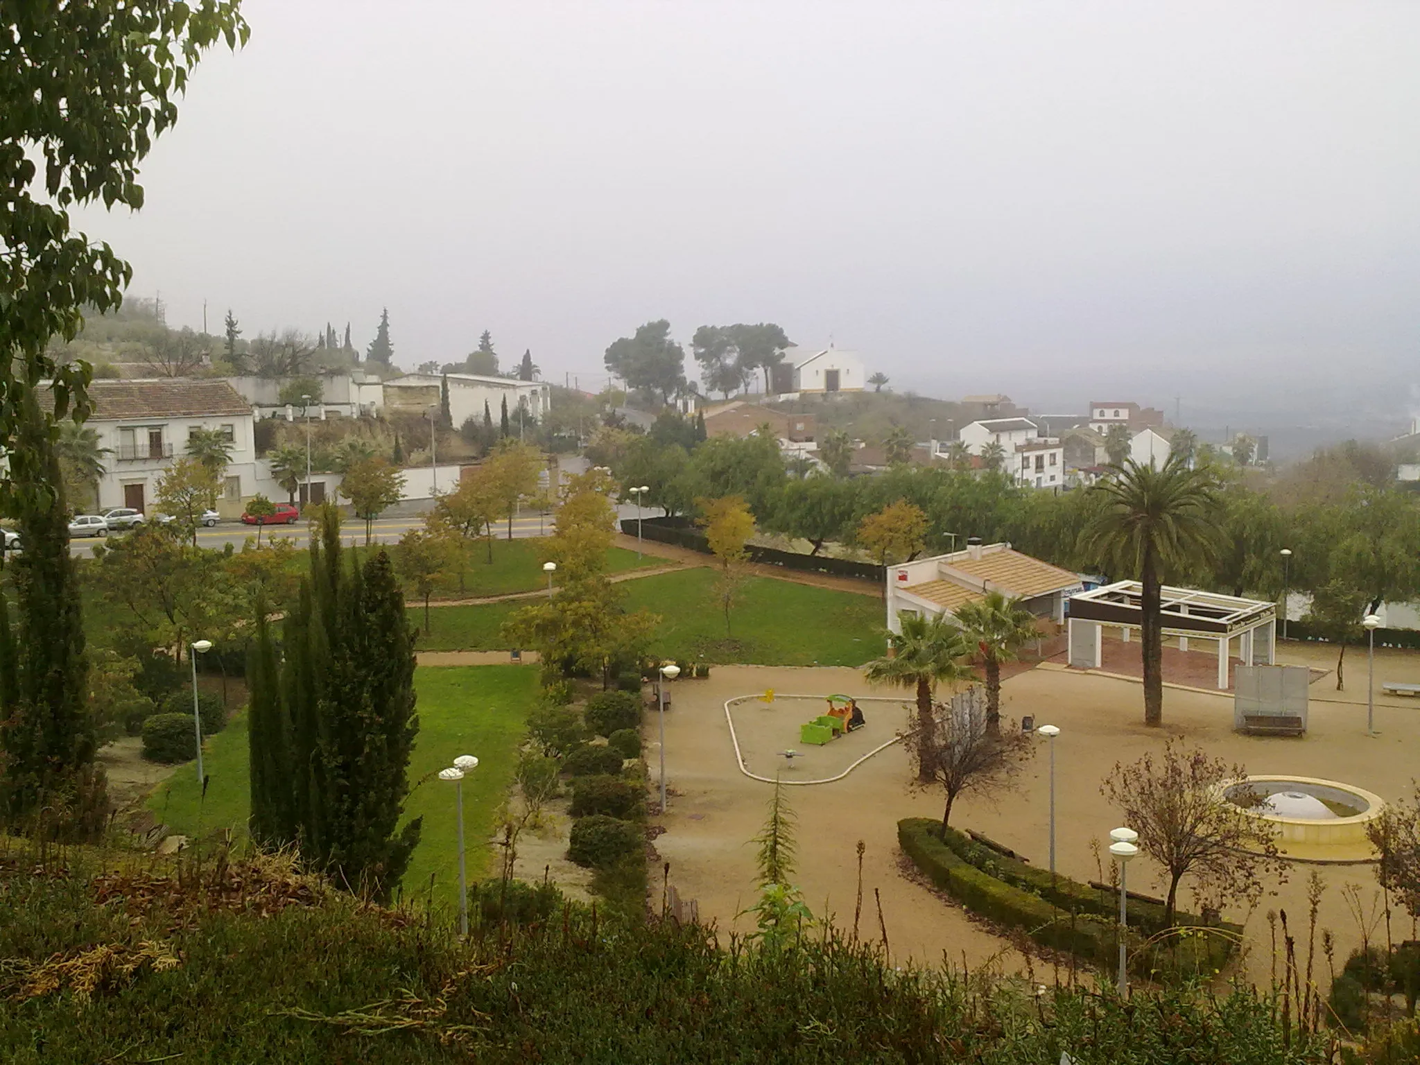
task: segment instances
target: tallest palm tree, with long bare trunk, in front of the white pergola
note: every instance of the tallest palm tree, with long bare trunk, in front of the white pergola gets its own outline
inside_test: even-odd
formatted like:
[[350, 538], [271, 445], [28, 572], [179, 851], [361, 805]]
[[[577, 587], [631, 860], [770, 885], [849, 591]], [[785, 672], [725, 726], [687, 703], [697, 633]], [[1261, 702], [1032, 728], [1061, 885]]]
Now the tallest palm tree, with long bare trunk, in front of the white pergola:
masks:
[[1162, 726], [1163, 574], [1213, 558], [1217, 480], [1207, 469], [1190, 470], [1176, 454], [1159, 470], [1133, 460], [1112, 470], [1115, 476], [1091, 488], [1106, 497], [1106, 506], [1085, 530], [1083, 542], [1119, 569], [1139, 575], [1145, 724]]

